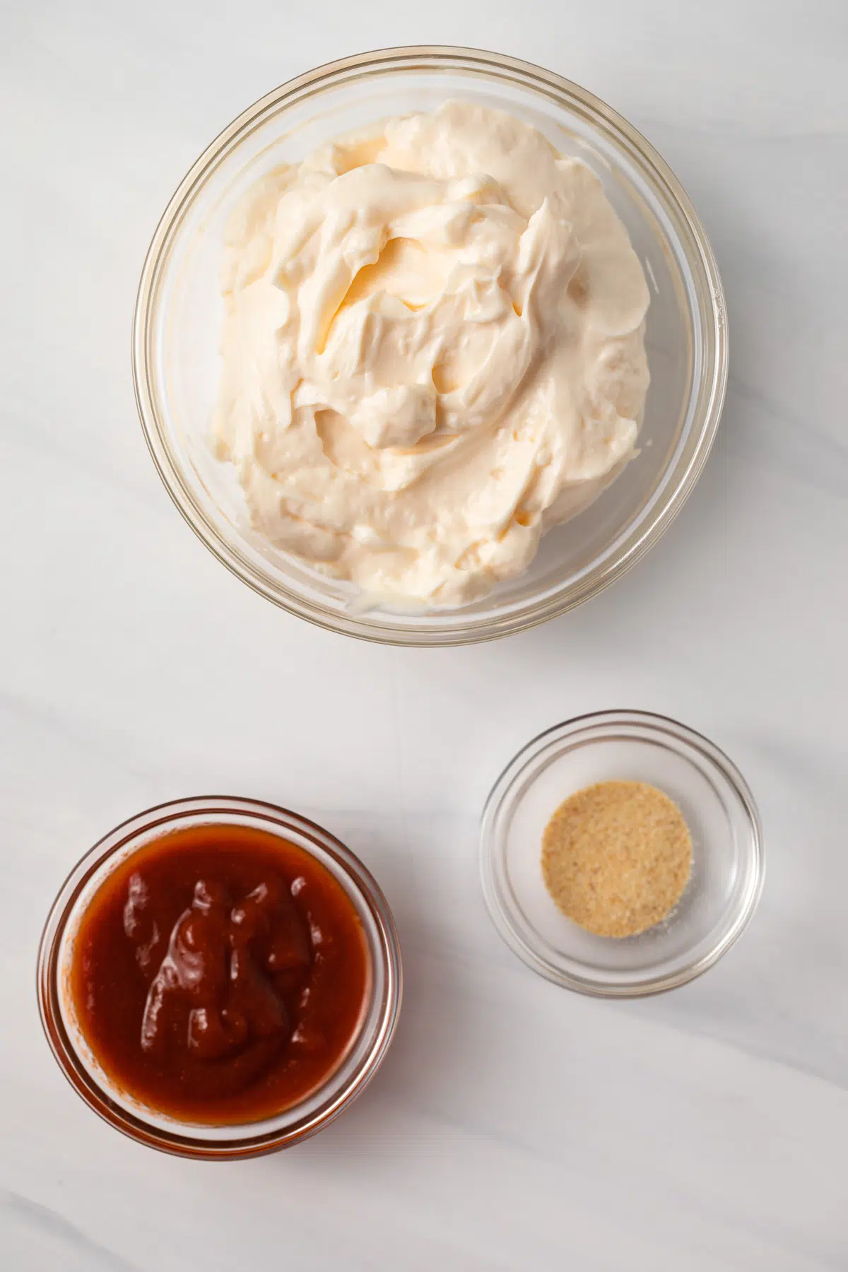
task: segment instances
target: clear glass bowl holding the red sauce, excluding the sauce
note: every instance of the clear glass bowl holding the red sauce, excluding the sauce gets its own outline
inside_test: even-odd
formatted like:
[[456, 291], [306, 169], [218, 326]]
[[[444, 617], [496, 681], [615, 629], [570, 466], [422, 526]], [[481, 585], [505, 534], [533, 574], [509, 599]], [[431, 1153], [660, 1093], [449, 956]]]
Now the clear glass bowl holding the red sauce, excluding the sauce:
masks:
[[[94, 893], [127, 857], [177, 828], [249, 826], [304, 848], [345, 889], [362, 923], [370, 992], [360, 1030], [327, 1082], [300, 1104], [261, 1122], [207, 1126], [164, 1117], [103, 1072], [76, 1021], [69, 988], [74, 936]], [[402, 996], [400, 946], [392, 912], [359, 857], [313, 822], [257, 800], [206, 796], [160, 804], [123, 822], [83, 857], [53, 902], [38, 951], [38, 1006], [53, 1056], [71, 1086], [109, 1126], [182, 1158], [226, 1160], [290, 1147], [325, 1127], [356, 1099], [392, 1042]]]

